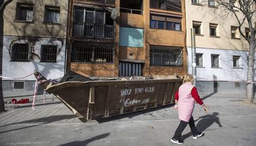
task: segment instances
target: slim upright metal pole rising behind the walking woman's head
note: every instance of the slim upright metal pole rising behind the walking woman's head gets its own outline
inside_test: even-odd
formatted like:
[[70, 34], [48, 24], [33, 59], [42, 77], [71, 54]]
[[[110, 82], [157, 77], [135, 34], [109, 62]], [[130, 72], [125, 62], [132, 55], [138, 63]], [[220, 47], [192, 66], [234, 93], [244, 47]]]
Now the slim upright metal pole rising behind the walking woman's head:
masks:
[[194, 86], [197, 86], [197, 63], [195, 54], [195, 28], [191, 28], [191, 49], [192, 49], [192, 75], [194, 76]]

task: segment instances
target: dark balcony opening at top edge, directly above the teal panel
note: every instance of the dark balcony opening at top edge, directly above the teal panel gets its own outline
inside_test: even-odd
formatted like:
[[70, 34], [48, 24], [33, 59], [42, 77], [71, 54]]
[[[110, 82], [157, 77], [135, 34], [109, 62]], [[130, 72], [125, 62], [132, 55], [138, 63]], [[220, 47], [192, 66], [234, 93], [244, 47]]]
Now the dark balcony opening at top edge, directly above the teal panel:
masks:
[[131, 14], [143, 14], [143, 0], [121, 0], [120, 11]]

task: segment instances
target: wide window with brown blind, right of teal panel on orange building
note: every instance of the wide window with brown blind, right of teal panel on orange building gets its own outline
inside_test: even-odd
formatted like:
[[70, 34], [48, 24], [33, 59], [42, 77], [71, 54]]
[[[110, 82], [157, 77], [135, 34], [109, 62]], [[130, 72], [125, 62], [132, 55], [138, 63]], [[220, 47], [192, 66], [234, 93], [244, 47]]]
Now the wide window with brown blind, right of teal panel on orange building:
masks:
[[150, 14], [150, 28], [181, 31], [181, 17]]

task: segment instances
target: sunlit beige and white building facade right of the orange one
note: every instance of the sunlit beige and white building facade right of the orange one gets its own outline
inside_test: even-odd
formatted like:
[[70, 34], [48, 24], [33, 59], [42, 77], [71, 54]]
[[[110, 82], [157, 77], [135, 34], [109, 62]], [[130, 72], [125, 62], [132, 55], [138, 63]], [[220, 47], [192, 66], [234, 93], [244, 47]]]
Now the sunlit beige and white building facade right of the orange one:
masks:
[[[237, 6], [237, 2], [235, 3]], [[234, 8], [238, 17], [242, 14]], [[232, 12], [212, 0], [186, 1], [188, 68], [192, 73], [191, 28], [195, 28], [198, 86], [202, 91], [242, 91], [247, 80], [249, 44]], [[246, 22], [242, 31], [248, 35]], [[213, 83], [213, 79], [221, 80]], [[244, 90], [243, 90], [244, 91]]]

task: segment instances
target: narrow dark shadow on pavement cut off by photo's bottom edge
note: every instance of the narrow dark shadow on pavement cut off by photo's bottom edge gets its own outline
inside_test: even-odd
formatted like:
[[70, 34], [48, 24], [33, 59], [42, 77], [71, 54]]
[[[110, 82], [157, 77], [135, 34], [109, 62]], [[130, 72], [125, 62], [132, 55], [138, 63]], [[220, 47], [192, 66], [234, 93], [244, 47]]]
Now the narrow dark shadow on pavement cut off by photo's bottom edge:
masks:
[[87, 139], [87, 140], [83, 140], [83, 141], [74, 141], [74, 142], [69, 142], [67, 144], [62, 144], [62, 145], [59, 145], [59, 146], [69, 146], [69, 145], [87, 145], [89, 144], [90, 142], [93, 142], [95, 140], [99, 140], [99, 139], [104, 139], [105, 137], [108, 137], [110, 135], [110, 133], [105, 133], [105, 134], [101, 134], [99, 136], [95, 136], [95, 137], [92, 137], [90, 139]]

